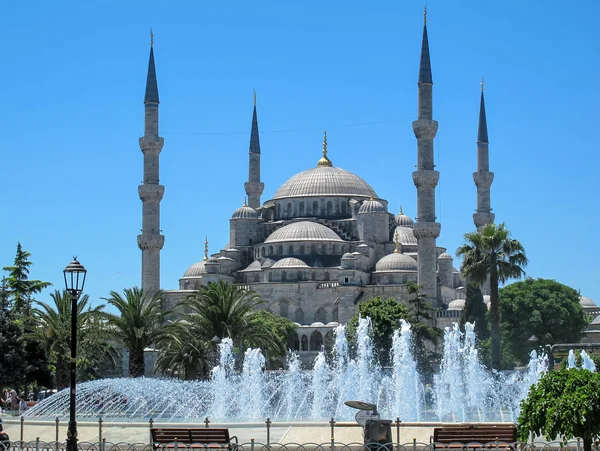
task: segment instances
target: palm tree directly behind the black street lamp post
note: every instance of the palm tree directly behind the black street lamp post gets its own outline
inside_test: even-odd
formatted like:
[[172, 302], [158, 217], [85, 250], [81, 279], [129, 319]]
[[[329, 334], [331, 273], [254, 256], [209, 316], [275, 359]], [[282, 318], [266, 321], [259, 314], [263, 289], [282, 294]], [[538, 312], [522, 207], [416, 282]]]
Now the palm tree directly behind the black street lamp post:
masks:
[[[56, 386], [61, 389], [69, 385], [69, 361], [71, 357], [71, 295], [56, 290], [50, 294], [53, 305], [34, 301], [32, 316], [36, 322], [34, 335], [41, 338], [46, 351], [56, 359]], [[87, 294], [77, 301], [77, 334], [79, 357], [99, 360], [105, 354], [111, 356], [108, 335], [101, 324], [103, 305], [91, 307]]]

